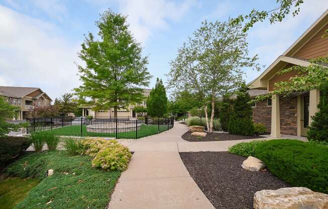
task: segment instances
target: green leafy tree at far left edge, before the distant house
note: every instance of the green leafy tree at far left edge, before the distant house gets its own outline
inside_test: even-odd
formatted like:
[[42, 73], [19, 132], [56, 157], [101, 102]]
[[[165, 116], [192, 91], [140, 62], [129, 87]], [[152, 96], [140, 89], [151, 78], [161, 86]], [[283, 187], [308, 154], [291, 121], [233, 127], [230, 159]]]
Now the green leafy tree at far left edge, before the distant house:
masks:
[[10, 131], [17, 131], [20, 127], [20, 125], [6, 122], [6, 120], [16, 116], [19, 110], [19, 107], [9, 104], [5, 97], [0, 96], [0, 137], [7, 135]]

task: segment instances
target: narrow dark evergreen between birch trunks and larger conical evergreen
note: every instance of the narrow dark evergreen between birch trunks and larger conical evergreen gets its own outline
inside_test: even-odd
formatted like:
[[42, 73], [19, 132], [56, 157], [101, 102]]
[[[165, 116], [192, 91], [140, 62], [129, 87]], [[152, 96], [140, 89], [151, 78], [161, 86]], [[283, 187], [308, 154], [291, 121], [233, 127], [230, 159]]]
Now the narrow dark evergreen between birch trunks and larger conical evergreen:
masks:
[[228, 131], [229, 119], [232, 113], [232, 104], [233, 101], [232, 99], [230, 99], [230, 94], [224, 94], [220, 104], [221, 113], [219, 115], [221, 127], [223, 131]]

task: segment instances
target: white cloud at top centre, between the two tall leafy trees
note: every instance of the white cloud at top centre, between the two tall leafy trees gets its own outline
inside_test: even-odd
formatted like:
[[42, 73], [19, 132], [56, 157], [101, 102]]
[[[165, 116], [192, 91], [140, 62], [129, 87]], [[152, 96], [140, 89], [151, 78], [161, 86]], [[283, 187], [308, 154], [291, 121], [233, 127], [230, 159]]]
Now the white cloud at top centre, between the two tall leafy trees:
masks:
[[196, 4], [194, 0], [185, 0], [182, 3], [122, 0], [118, 3], [120, 12], [128, 15], [131, 32], [142, 43], [146, 42], [154, 30], [168, 29], [169, 21], [179, 21]]

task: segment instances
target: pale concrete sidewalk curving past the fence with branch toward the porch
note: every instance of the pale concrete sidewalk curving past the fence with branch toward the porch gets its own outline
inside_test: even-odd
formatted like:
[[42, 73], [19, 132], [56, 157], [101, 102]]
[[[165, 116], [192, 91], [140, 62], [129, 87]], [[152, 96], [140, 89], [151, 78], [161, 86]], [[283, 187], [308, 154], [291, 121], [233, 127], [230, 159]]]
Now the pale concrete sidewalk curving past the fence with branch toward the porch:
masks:
[[187, 130], [186, 125], [176, 122], [167, 132], [142, 140], [120, 140], [134, 154], [108, 208], [214, 208], [190, 176], [179, 152], [227, 151], [229, 146], [254, 139], [187, 142], [181, 138]]

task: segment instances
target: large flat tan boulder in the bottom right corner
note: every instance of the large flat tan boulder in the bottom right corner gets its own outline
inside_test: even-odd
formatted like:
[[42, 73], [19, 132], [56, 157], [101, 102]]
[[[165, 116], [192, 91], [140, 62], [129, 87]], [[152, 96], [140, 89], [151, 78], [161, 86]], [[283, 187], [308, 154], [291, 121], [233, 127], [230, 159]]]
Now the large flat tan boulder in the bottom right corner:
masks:
[[255, 209], [327, 209], [328, 194], [305, 187], [265, 189], [254, 194]]

